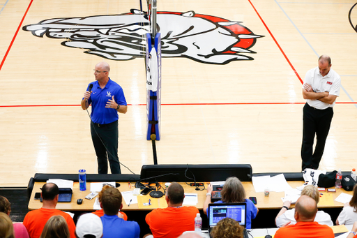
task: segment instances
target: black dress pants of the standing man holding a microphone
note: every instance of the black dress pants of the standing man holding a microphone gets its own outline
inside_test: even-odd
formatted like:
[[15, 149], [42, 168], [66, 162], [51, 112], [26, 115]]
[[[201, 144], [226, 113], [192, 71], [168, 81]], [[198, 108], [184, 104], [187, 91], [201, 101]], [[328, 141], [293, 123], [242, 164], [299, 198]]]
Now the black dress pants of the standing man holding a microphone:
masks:
[[108, 173], [108, 159], [112, 174], [120, 174], [118, 121], [104, 125], [91, 122], [91, 136], [97, 155], [98, 174]]

